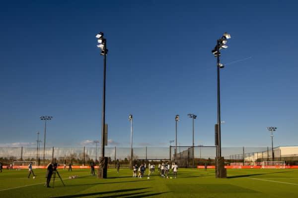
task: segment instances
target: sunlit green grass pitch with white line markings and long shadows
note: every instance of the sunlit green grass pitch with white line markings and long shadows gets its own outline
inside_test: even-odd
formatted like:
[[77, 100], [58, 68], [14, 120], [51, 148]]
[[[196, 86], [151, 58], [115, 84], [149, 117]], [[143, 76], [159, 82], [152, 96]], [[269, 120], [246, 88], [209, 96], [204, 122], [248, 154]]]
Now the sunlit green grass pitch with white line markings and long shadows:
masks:
[[[108, 179], [96, 179], [90, 170], [59, 170], [55, 188], [45, 188], [45, 170], [0, 173], [0, 198], [284, 198], [298, 197], [298, 169], [228, 169], [227, 179], [216, 179], [214, 169], [178, 170], [177, 179], [151, 175], [132, 178], [132, 171], [109, 169]], [[146, 171], [147, 174], [147, 171]], [[78, 175], [77, 179], [68, 179]], [[51, 186], [53, 179], [51, 180]]]

